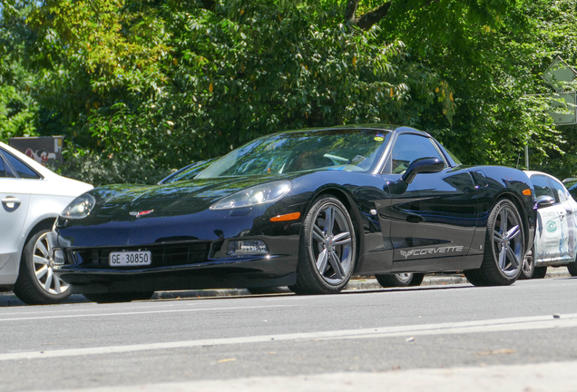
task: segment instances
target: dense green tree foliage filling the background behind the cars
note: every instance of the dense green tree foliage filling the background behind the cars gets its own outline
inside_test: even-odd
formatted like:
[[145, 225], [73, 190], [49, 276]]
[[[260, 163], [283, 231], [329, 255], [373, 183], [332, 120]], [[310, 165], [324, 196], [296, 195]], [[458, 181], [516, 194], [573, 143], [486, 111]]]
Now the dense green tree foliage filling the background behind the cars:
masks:
[[532, 165], [569, 174], [567, 137], [529, 95], [555, 55], [577, 61], [575, 8], [550, 3], [9, 0], [0, 138], [64, 134], [64, 173], [99, 184], [271, 132], [400, 123], [468, 163], [515, 165], [529, 141]]

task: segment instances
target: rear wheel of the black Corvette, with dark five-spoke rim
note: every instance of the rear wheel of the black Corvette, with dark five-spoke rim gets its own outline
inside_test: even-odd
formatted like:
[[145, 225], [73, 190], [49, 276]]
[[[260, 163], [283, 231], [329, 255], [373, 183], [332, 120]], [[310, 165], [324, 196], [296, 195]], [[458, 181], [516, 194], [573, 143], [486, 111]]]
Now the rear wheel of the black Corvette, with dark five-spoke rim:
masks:
[[513, 201], [497, 201], [487, 221], [481, 267], [465, 270], [465, 277], [475, 286], [511, 285], [521, 275], [524, 251], [524, 229], [519, 211]]

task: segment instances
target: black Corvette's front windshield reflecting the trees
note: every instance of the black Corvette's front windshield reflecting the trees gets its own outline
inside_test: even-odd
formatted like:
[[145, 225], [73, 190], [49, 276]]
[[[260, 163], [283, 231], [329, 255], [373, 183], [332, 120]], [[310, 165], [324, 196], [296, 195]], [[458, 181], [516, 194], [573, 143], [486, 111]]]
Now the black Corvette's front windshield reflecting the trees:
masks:
[[383, 152], [390, 132], [330, 129], [276, 133], [230, 152], [196, 178], [298, 171], [367, 171]]

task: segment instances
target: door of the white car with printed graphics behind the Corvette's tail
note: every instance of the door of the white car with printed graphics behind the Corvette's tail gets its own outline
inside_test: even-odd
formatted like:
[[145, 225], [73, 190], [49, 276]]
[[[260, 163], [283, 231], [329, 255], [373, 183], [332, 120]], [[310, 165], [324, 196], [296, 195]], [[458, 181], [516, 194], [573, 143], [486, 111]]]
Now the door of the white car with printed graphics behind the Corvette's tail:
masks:
[[533, 174], [531, 182], [535, 190], [535, 197], [551, 196], [555, 199], [552, 206], [539, 209], [537, 233], [535, 235], [535, 266], [564, 260], [569, 257], [567, 241], [569, 227], [567, 225], [567, 211], [559, 200], [558, 192], [553, 189], [552, 183], [543, 174]]

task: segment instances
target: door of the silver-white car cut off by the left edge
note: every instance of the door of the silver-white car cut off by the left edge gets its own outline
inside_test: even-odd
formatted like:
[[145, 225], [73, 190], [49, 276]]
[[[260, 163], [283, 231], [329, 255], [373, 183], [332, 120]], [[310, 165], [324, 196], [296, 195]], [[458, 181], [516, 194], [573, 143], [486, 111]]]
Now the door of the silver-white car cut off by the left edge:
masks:
[[0, 149], [0, 268], [19, 254], [19, 239], [30, 203], [29, 187], [23, 184], [8, 160], [14, 158]]

